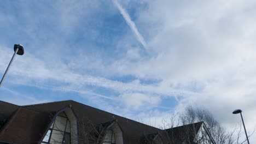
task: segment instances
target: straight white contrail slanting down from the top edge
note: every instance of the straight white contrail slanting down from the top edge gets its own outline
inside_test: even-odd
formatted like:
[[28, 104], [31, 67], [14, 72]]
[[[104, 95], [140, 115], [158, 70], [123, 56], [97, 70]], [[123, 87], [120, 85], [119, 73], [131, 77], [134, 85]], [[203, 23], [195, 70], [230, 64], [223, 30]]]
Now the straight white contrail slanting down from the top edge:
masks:
[[147, 43], [144, 40], [144, 38], [142, 37], [142, 35], [138, 32], [138, 29], [137, 29], [135, 23], [131, 20], [130, 15], [125, 11], [125, 9], [122, 7], [122, 5], [117, 0], [112, 0], [112, 2], [115, 4], [115, 6], [120, 11], [120, 13], [123, 15], [127, 25], [130, 26], [130, 28], [132, 29], [132, 32], [135, 34], [139, 43], [141, 43], [144, 46], [144, 48], [146, 49]]

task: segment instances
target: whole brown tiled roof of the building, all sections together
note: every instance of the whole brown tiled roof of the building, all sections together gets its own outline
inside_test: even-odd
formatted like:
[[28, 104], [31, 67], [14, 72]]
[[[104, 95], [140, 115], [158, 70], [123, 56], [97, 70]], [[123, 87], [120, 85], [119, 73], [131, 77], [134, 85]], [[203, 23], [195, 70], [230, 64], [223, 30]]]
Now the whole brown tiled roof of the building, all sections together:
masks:
[[[182, 127], [161, 130], [125, 117], [114, 115], [113, 113], [77, 103], [73, 100], [20, 107], [0, 101], [0, 107], [4, 106], [4, 110], [2, 109], [2, 111], [0, 111], [1, 116], [9, 117], [9, 121], [0, 131], [0, 143], [1, 141], [24, 144], [38, 143], [39, 140], [42, 139], [43, 134], [46, 133], [51, 121], [53, 121], [54, 114], [62, 110], [63, 107], [67, 107], [67, 105], [72, 105], [72, 110], [78, 117], [80, 143], [82, 143], [83, 140], [83, 131], [86, 129], [82, 127], [82, 123], [84, 122], [92, 122], [95, 125], [101, 125], [116, 121], [121, 130], [123, 130], [123, 139], [125, 144], [141, 143], [144, 136], [150, 136], [151, 134], [164, 135], [168, 133], [172, 135], [184, 135], [183, 132], [185, 129], [191, 127], [198, 131], [202, 124], [195, 123], [193, 125], [184, 125]], [[11, 110], [7, 110], [9, 108]], [[15, 113], [11, 116], [11, 113], [14, 111]], [[193, 137], [191, 137], [191, 139], [192, 138]]]

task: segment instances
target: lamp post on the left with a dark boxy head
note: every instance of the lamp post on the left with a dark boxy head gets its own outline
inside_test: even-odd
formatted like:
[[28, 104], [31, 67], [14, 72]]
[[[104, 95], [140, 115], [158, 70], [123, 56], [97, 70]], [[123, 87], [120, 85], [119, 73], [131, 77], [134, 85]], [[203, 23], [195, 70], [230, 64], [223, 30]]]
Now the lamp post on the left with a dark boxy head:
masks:
[[13, 63], [13, 59], [16, 56], [16, 54], [17, 55], [23, 55], [24, 54], [24, 47], [22, 45], [20, 45], [20, 44], [15, 44], [13, 49], [14, 49], [13, 57], [11, 58], [11, 61], [10, 61], [9, 65], [8, 65], [7, 69], [4, 72], [2, 80], [0, 81], [0, 87], [2, 86], [2, 83], [3, 83], [4, 79], [5, 79], [5, 76], [7, 75], [8, 70], [10, 69], [11, 63]]

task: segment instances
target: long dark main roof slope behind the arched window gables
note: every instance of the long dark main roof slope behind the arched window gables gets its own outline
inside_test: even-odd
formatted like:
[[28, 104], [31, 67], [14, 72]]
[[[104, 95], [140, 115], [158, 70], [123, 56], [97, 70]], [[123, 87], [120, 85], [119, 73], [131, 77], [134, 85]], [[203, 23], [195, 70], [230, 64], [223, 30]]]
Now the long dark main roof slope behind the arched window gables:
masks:
[[127, 144], [139, 143], [141, 136], [161, 131], [161, 129], [154, 128], [149, 125], [127, 119], [125, 117], [114, 115], [113, 113], [102, 111], [88, 105], [80, 104], [73, 100], [57, 101], [54, 103], [37, 105], [27, 105], [25, 107], [27, 109], [49, 113], [56, 112], [62, 109], [63, 106], [69, 104], [72, 105], [72, 110], [74, 111], [75, 115], [80, 119], [80, 121], [84, 119], [84, 121], [91, 121], [94, 124], [102, 124], [117, 119], [120, 128], [124, 131], [124, 142]]

